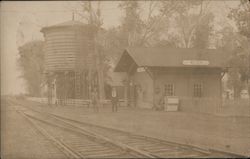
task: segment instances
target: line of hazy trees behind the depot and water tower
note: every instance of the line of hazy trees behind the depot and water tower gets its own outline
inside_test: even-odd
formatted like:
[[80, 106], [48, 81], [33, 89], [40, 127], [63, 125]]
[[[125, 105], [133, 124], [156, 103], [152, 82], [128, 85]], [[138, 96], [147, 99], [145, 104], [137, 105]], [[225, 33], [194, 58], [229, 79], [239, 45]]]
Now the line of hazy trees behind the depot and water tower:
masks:
[[[228, 87], [239, 96], [240, 90], [249, 85], [250, 79], [250, 3], [241, 0], [237, 8], [230, 8], [225, 22], [216, 24], [211, 1], [121, 1], [123, 13], [118, 26], [104, 29], [101, 3], [79, 2], [82, 10], [75, 13], [85, 22], [98, 28], [95, 45], [99, 58], [98, 67], [104, 81], [109, 79], [110, 62], [129, 46], [174, 48], [222, 48], [232, 52], [227, 63]], [[95, 7], [93, 7], [95, 5]], [[237, 31], [227, 21], [232, 20]], [[221, 29], [215, 29], [220, 25]], [[19, 48], [18, 64], [27, 91], [40, 95], [44, 83], [44, 42], [32, 41]], [[249, 89], [249, 88], [248, 88]]]

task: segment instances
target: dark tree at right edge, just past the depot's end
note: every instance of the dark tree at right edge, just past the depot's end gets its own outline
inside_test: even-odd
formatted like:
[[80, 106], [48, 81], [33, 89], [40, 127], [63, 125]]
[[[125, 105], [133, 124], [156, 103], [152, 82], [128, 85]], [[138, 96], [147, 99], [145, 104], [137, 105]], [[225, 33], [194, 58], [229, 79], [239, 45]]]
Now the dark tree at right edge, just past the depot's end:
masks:
[[240, 97], [240, 92], [246, 87], [248, 78], [248, 57], [247, 52], [250, 49], [248, 40], [235, 29], [226, 24], [221, 24], [223, 28], [216, 32], [217, 48], [223, 49], [228, 53], [228, 81], [227, 86], [234, 90], [235, 98]]

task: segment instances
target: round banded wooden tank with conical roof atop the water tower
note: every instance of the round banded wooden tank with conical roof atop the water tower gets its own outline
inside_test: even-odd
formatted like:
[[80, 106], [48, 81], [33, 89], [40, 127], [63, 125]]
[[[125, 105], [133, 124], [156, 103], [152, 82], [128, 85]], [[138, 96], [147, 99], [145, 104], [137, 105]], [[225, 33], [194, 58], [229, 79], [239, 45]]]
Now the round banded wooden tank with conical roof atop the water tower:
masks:
[[93, 27], [78, 22], [44, 27], [45, 71], [75, 71], [87, 67], [87, 57], [93, 52]]

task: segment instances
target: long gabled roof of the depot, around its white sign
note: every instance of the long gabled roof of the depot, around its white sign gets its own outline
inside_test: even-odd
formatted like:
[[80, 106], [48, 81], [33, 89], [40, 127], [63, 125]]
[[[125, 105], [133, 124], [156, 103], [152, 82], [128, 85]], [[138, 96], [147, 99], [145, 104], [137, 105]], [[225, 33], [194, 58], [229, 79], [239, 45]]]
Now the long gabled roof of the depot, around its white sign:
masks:
[[[138, 67], [214, 67], [225, 66], [225, 53], [217, 49], [191, 49], [191, 48], [166, 48], [166, 47], [137, 47], [124, 50], [118, 61], [115, 71], [122, 72], [121, 67], [128, 67], [128, 61], [134, 61]], [[209, 61], [208, 65], [184, 65], [186, 60]], [[130, 62], [131, 63], [131, 62]]]

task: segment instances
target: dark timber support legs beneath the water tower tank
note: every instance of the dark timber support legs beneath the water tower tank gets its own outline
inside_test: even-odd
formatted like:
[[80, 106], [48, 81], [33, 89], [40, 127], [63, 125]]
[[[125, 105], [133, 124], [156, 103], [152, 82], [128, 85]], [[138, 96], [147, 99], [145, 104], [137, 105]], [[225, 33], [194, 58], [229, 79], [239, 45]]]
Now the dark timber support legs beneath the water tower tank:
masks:
[[[103, 99], [103, 83], [98, 71], [60, 71], [47, 75], [48, 104], [67, 105], [69, 99], [91, 99], [91, 91], [97, 88]], [[91, 80], [90, 80], [91, 79]]]

